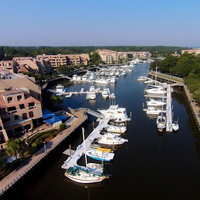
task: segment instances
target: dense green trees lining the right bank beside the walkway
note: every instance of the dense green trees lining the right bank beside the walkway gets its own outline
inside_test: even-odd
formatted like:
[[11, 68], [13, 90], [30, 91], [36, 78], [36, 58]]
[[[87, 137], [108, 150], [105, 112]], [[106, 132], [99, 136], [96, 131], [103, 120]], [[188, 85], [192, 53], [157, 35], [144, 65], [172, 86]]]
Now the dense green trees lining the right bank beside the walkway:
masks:
[[184, 53], [178, 57], [168, 54], [164, 60], [151, 63], [150, 69], [155, 70], [156, 66], [162, 73], [183, 78], [200, 105], [200, 55]]

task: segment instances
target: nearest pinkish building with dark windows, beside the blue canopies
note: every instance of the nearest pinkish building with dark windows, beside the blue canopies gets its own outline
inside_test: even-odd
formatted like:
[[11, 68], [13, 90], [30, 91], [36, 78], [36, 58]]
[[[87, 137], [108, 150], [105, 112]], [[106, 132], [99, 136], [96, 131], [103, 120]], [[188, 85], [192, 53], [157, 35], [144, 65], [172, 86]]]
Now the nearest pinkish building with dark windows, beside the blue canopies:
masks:
[[0, 137], [6, 142], [9, 138], [21, 137], [42, 122], [41, 102], [30, 95], [28, 88], [2, 90], [0, 116]]

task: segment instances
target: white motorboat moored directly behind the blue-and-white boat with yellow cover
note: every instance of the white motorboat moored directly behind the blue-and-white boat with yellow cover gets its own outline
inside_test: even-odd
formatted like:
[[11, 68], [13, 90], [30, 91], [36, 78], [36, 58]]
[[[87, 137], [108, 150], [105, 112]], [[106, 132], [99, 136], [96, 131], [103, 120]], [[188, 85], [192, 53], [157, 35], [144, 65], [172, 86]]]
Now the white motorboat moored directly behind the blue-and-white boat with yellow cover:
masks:
[[99, 144], [104, 145], [122, 145], [125, 142], [128, 142], [127, 139], [121, 138], [119, 135], [107, 133], [103, 135], [99, 140]]

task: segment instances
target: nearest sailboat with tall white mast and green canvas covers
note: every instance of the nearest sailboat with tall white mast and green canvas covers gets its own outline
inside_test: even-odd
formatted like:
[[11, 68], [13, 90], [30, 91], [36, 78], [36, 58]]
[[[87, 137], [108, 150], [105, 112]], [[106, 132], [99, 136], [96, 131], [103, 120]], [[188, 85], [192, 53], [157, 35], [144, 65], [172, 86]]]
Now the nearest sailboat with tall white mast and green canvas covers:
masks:
[[[82, 128], [83, 132], [83, 145], [84, 145], [84, 153], [85, 150], [85, 136], [84, 136], [84, 129]], [[87, 156], [85, 153], [85, 163], [86, 166], [78, 166], [74, 165], [73, 167], [69, 167], [66, 172], [65, 176], [72, 181], [78, 183], [97, 183], [101, 182], [104, 179], [108, 178], [103, 174], [103, 169], [100, 164], [96, 163], [87, 163]]]

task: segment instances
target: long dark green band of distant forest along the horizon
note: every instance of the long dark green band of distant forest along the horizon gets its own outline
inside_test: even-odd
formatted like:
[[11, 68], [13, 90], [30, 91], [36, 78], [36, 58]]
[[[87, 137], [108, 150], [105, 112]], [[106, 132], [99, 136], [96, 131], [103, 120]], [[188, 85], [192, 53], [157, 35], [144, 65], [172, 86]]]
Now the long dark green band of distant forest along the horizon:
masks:
[[40, 47], [11, 47], [1, 46], [0, 47], [0, 60], [12, 60], [13, 57], [20, 56], [32, 56], [47, 54], [80, 54], [80, 53], [91, 53], [97, 49], [109, 49], [114, 51], [149, 51], [152, 57], [165, 56], [168, 53], [174, 53], [177, 51], [181, 52], [186, 47], [174, 47], [174, 46], [69, 46], [69, 47], [51, 47], [51, 46], [40, 46]]

